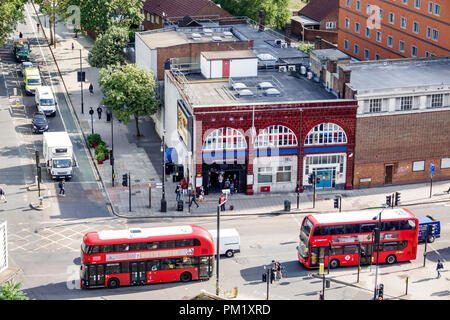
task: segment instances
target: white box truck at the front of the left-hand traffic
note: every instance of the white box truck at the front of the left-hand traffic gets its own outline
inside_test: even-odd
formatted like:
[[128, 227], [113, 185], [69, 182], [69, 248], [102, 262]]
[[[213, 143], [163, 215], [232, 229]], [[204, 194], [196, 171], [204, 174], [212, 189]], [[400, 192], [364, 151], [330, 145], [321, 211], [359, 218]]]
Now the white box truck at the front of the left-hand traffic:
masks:
[[52, 179], [72, 178], [73, 146], [67, 132], [44, 132], [43, 155]]

